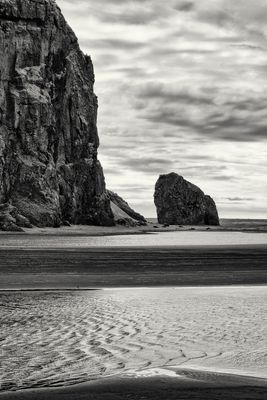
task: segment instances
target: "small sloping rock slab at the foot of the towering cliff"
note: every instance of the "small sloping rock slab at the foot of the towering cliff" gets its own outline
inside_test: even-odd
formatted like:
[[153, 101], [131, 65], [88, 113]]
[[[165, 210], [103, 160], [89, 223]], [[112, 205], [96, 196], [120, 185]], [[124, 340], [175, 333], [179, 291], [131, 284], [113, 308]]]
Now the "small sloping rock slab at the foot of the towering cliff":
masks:
[[116, 223], [127, 226], [146, 225], [146, 219], [135, 212], [117, 193], [108, 190], [107, 194]]

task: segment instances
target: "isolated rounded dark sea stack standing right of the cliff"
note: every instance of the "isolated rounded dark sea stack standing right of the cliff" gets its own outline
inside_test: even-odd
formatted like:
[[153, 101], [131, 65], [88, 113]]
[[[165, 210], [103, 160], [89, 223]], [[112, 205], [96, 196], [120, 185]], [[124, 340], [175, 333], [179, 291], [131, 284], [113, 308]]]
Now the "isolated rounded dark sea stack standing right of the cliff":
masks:
[[160, 224], [220, 225], [214, 200], [178, 174], [159, 177], [154, 201]]

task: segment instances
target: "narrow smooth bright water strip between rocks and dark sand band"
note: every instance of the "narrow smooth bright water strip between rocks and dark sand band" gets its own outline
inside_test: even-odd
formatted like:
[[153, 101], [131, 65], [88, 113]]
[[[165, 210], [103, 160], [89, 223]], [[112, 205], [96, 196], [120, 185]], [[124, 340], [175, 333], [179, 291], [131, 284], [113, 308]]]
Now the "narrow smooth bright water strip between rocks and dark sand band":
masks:
[[252, 232], [159, 232], [116, 236], [1, 235], [2, 247], [145, 247], [267, 244], [266, 233]]

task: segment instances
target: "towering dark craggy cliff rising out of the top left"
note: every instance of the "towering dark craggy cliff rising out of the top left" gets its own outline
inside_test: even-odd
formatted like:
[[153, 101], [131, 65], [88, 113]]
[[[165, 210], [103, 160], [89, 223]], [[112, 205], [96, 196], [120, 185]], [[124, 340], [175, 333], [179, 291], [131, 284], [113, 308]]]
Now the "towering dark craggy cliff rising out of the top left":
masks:
[[93, 84], [53, 0], [0, 0], [0, 204], [14, 224], [114, 224]]

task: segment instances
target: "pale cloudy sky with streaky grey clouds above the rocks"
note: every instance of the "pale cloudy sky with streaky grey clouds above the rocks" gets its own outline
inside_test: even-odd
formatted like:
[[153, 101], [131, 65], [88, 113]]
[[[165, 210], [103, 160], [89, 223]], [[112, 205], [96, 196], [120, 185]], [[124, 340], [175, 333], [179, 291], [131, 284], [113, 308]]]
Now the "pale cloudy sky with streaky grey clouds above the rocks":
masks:
[[92, 58], [106, 185], [155, 217], [176, 172], [267, 218], [266, 0], [57, 0]]

